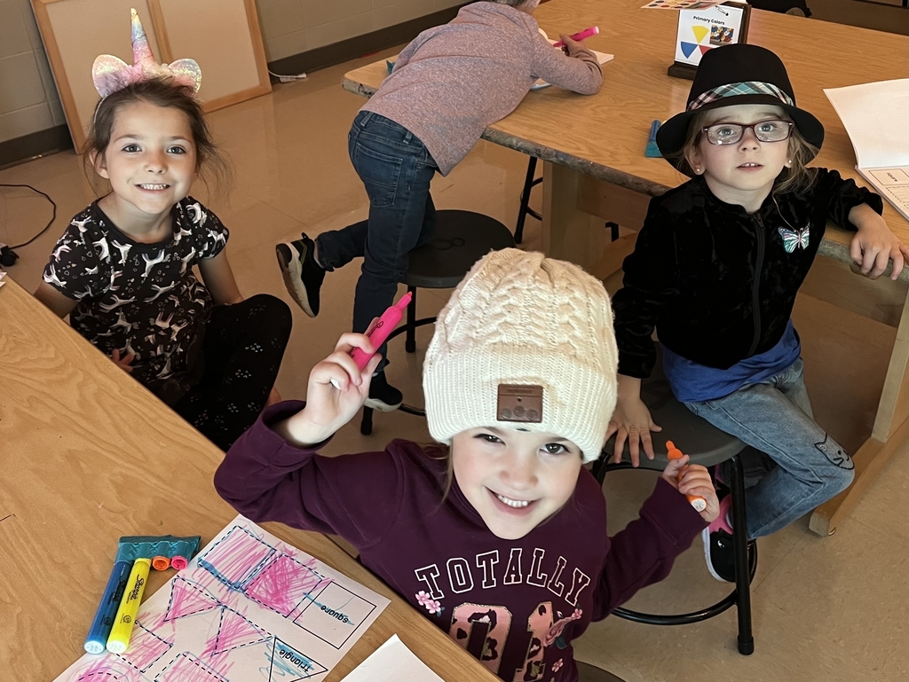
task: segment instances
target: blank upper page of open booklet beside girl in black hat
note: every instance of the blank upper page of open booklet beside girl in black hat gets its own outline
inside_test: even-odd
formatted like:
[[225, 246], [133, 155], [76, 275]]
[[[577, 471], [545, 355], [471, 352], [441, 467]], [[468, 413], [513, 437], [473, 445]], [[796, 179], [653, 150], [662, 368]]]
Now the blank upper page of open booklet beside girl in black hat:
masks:
[[824, 90], [859, 168], [909, 165], [909, 78]]

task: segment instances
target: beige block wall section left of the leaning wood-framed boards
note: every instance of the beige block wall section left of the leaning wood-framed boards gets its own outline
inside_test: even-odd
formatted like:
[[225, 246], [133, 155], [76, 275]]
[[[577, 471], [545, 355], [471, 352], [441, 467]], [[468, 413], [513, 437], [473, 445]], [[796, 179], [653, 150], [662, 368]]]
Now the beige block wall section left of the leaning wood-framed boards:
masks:
[[0, 142], [65, 123], [32, 5], [0, 0]]

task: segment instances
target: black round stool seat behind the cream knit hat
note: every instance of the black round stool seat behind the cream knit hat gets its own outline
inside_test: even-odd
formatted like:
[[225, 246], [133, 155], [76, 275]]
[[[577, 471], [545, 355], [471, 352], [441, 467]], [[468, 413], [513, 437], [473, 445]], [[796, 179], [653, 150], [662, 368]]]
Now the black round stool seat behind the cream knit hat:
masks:
[[433, 239], [410, 252], [408, 287], [454, 289], [488, 252], [514, 247], [501, 222], [473, 211], [437, 211]]

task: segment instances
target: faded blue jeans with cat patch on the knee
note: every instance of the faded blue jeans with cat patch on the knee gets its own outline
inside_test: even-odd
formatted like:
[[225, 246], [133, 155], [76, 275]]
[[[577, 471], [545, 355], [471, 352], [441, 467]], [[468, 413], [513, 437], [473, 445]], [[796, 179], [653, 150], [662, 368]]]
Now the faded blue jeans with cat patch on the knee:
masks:
[[795, 519], [848, 488], [853, 460], [813, 419], [804, 388], [804, 362], [717, 400], [685, 407], [776, 462], [760, 482], [745, 491], [748, 538], [788, 526]]

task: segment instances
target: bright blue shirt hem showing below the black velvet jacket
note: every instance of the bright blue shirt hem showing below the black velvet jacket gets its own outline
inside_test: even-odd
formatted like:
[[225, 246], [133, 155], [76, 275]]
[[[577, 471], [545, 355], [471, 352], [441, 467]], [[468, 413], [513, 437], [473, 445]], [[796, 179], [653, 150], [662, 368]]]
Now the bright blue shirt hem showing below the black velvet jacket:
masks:
[[728, 370], [707, 367], [660, 345], [663, 347], [663, 371], [680, 402], [716, 400], [734, 393], [746, 383], [770, 379], [798, 360], [802, 351], [792, 320], [786, 324], [783, 337], [773, 348], [736, 362]]

